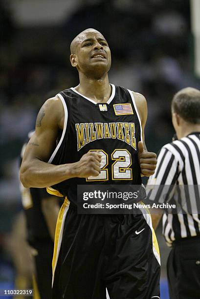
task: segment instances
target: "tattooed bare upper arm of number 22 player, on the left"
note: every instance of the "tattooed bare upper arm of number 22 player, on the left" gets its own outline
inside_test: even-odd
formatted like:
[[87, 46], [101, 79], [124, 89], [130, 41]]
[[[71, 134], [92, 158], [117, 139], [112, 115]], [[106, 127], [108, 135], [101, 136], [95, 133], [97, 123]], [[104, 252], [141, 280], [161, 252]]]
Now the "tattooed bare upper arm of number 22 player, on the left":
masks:
[[29, 140], [23, 155], [24, 162], [39, 159], [47, 162], [56, 147], [58, 132], [62, 129], [64, 109], [58, 98], [47, 100], [40, 109], [35, 132]]

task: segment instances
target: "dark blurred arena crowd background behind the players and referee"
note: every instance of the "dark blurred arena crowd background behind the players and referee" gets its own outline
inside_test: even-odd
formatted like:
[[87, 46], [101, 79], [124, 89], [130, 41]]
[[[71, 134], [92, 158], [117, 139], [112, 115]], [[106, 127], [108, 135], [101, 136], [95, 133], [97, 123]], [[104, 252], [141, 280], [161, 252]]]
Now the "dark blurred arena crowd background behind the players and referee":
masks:
[[[0, 0], [0, 289], [14, 287], [17, 272], [25, 277], [32, 271], [23, 252], [20, 150], [44, 101], [78, 84], [69, 62], [71, 40], [90, 27], [103, 33], [112, 54], [110, 82], [146, 97], [146, 145], [157, 152], [174, 134], [170, 112], [174, 93], [185, 86], [200, 89], [195, 73], [199, 67], [195, 30], [200, 31], [200, 24], [191, 17], [194, 2]], [[161, 299], [168, 299], [169, 249], [161, 226], [156, 235], [162, 261]]]

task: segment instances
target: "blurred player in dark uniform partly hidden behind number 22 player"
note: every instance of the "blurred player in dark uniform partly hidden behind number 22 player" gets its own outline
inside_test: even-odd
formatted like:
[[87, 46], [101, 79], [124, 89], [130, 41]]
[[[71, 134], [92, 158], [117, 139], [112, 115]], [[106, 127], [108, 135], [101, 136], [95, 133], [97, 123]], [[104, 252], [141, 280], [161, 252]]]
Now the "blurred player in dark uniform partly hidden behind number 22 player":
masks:
[[[34, 131], [29, 132], [28, 137], [31, 138], [33, 133]], [[26, 145], [27, 142], [22, 147], [21, 159]], [[51, 264], [60, 198], [47, 193], [46, 188], [24, 188], [22, 184], [21, 194], [26, 218], [27, 241], [35, 265], [34, 298], [51, 299]], [[63, 202], [62, 198], [60, 201]]]

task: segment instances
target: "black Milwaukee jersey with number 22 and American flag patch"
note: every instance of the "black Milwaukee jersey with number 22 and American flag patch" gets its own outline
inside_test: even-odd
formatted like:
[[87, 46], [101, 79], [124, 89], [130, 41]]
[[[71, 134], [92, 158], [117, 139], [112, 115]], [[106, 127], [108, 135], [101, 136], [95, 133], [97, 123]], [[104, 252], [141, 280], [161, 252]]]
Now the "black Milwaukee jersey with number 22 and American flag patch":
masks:
[[77, 162], [89, 150], [102, 154], [96, 177], [71, 178], [52, 186], [76, 204], [77, 185], [140, 185], [137, 144], [142, 128], [132, 91], [111, 85], [107, 103], [96, 103], [74, 88], [58, 96], [65, 110], [61, 139], [49, 159], [54, 165]]

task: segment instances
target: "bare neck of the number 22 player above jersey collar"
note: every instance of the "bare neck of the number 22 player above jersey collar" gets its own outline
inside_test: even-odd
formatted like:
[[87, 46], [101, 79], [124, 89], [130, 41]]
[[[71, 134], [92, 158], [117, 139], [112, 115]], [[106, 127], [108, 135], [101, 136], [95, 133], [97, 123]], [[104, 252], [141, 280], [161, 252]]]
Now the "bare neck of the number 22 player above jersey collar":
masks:
[[92, 79], [80, 76], [80, 84], [75, 89], [97, 103], [106, 103], [111, 96], [108, 74], [102, 79]]

